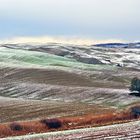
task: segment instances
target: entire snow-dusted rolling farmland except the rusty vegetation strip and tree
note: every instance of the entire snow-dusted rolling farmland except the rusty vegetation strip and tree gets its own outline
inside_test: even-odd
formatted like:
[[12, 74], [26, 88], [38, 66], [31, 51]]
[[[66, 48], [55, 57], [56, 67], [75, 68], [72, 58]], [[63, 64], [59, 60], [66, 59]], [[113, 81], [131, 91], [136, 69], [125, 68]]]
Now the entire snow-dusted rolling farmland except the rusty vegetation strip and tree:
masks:
[[[135, 76], [140, 76], [140, 49], [135, 47], [2, 44], [0, 121], [125, 110], [140, 102], [129, 91]], [[129, 140], [140, 137], [139, 126], [136, 121], [4, 140]]]

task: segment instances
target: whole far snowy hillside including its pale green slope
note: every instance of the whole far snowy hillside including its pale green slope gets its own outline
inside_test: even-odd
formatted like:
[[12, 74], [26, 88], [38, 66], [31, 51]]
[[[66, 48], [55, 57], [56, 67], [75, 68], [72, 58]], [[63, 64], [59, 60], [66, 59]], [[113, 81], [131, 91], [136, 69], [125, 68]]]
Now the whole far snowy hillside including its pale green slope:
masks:
[[140, 69], [140, 49], [135, 47], [108, 48], [56, 43], [46, 45], [5, 44], [0, 46], [0, 52], [1, 64], [4, 65], [5, 62], [8, 62], [8, 65], [18, 67], [31, 67], [32, 65], [34, 67], [64, 66], [80, 69], [100, 69], [101, 67], [103, 69], [109, 67], [107, 64], [119, 64]]

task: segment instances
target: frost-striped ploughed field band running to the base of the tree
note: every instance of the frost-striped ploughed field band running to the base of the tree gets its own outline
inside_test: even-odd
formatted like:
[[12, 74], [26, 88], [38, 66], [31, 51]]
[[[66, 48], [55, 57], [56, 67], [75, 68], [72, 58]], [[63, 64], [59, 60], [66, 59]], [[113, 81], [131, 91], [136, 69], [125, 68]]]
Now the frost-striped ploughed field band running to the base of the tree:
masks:
[[0, 96], [88, 104], [129, 105], [140, 98], [129, 95], [128, 89], [50, 85], [31, 82], [11, 82], [0, 85]]

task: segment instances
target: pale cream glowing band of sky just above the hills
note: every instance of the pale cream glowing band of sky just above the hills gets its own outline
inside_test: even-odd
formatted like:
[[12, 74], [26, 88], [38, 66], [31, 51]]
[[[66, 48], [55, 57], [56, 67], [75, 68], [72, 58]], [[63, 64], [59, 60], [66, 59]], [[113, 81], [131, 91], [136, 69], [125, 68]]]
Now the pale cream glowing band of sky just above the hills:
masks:
[[64, 36], [19, 36], [8, 39], [0, 39], [0, 44], [46, 44], [62, 43], [73, 45], [96, 45], [106, 43], [135, 43], [139, 41], [127, 41], [122, 39], [92, 39], [83, 37], [64, 37]]

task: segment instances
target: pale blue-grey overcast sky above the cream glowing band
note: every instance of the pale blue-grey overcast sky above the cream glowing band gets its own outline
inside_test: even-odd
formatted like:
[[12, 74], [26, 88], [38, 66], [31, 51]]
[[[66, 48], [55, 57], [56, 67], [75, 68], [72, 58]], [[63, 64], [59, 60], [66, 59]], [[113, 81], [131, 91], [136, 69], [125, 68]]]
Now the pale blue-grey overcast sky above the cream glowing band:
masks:
[[140, 40], [140, 0], [0, 0], [0, 39]]

